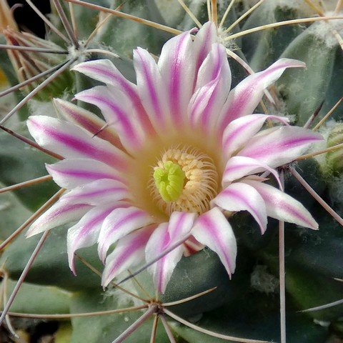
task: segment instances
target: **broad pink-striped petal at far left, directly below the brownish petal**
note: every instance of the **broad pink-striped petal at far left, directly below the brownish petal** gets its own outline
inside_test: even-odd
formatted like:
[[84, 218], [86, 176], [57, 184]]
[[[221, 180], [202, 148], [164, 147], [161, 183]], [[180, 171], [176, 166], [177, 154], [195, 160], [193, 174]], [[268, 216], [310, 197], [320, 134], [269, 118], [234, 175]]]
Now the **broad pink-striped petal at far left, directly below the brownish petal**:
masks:
[[116, 169], [126, 168], [128, 155], [69, 121], [50, 116], [30, 116], [27, 126], [40, 146], [66, 158], [90, 158]]

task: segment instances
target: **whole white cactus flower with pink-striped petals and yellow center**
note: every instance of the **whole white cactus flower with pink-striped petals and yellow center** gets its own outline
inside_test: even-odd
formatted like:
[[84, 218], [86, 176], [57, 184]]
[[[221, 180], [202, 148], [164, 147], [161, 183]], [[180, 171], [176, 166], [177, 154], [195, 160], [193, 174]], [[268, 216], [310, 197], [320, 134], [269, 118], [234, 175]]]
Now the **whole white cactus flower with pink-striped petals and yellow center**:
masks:
[[[104, 83], [75, 97], [98, 106], [105, 120], [60, 99], [61, 119], [29, 118], [38, 144], [64, 156], [46, 169], [67, 192], [28, 236], [76, 222], [67, 234], [69, 266], [75, 272], [74, 252], [97, 243], [106, 287], [191, 234], [150, 267], [164, 292], [182, 255], [204, 246], [231, 277], [237, 244], [227, 216], [234, 212], [252, 214], [262, 234], [267, 216], [317, 229], [302, 204], [259, 174], [279, 182], [275, 168], [322, 136], [289, 126], [284, 117], [252, 114], [285, 69], [303, 66], [280, 59], [230, 91], [226, 50], [211, 22], [167, 41], [157, 63], [137, 48], [136, 84], [106, 59], [74, 66]], [[264, 129], [267, 120], [277, 125]]]

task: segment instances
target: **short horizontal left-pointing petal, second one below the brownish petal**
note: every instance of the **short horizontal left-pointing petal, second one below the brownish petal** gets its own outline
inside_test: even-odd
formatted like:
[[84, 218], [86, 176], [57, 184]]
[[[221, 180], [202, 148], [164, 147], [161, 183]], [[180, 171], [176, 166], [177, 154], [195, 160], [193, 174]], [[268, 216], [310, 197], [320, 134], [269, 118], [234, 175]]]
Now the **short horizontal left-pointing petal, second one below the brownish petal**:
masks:
[[45, 166], [54, 182], [65, 189], [89, 184], [98, 179], [124, 181], [114, 168], [94, 159], [63, 159]]

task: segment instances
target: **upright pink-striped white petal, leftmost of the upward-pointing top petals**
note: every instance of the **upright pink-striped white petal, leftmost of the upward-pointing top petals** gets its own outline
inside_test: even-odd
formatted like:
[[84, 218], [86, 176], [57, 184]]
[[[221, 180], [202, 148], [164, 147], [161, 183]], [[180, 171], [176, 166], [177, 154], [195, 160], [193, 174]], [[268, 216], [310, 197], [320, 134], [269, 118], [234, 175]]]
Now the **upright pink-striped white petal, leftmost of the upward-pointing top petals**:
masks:
[[141, 103], [157, 132], [168, 129], [169, 111], [166, 108], [166, 85], [154, 58], [145, 49], [134, 50], [134, 69]]

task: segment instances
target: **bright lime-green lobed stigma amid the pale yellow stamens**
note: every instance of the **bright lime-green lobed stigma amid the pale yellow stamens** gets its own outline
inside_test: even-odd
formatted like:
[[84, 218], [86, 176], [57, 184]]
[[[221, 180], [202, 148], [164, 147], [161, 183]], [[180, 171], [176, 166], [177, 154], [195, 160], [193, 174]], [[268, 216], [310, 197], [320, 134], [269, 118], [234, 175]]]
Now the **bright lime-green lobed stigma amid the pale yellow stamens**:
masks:
[[163, 168], [156, 168], [154, 180], [161, 198], [165, 202], [175, 202], [184, 189], [184, 171], [179, 164], [166, 161]]

